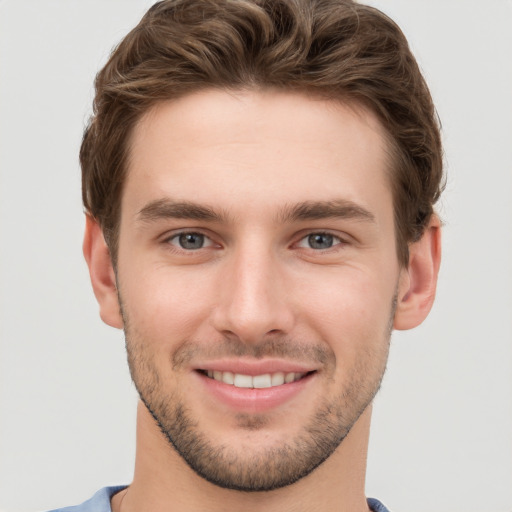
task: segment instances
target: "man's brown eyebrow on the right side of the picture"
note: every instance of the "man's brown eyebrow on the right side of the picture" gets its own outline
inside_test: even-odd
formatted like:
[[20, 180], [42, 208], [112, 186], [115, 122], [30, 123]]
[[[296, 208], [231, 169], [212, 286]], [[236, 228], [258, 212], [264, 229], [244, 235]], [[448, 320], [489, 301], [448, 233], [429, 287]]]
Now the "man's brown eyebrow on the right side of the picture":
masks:
[[346, 199], [304, 201], [295, 205], [285, 206], [278, 218], [281, 222], [339, 218], [375, 223], [375, 215], [373, 213]]

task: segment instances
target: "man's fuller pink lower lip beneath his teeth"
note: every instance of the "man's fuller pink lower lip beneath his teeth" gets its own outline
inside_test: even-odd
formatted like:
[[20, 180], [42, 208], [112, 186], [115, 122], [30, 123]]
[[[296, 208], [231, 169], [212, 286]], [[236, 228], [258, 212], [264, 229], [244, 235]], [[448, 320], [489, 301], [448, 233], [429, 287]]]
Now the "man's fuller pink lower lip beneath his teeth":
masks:
[[237, 388], [224, 384], [200, 372], [195, 372], [207, 392], [228, 407], [239, 412], [264, 412], [292, 400], [314, 379], [310, 373], [300, 380], [270, 388]]

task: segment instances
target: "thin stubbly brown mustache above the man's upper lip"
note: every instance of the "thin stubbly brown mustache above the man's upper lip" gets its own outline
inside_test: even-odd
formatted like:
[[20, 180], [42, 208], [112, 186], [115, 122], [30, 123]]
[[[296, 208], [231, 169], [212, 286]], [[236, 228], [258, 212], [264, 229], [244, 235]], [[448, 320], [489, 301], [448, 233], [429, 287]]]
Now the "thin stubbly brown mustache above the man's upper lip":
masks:
[[302, 363], [317, 363], [322, 366], [335, 364], [336, 361], [334, 352], [327, 344], [305, 343], [288, 337], [269, 338], [259, 343], [244, 343], [238, 339], [224, 338], [207, 343], [185, 341], [172, 355], [172, 367], [173, 370], [179, 370], [197, 359], [231, 357], [275, 357]]

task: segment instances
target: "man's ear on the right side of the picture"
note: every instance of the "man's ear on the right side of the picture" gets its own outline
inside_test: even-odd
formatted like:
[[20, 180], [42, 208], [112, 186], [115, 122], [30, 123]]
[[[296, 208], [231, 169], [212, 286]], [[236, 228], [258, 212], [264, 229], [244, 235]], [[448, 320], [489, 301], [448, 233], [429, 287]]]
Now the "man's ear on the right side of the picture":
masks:
[[436, 296], [441, 264], [441, 223], [432, 215], [423, 236], [409, 246], [409, 264], [401, 271], [393, 327], [412, 329], [427, 318]]

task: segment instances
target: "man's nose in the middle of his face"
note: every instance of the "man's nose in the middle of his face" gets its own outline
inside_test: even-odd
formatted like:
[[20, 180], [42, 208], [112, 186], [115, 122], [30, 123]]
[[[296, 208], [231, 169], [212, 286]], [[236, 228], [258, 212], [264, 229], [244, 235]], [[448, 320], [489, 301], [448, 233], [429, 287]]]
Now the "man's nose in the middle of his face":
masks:
[[[258, 244], [256, 244], [258, 245]], [[292, 330], [294, 313], [279, 257], [260, 247], [242, 248], [224, 262], [214, 327], [224, 336], [257, 343]]]

